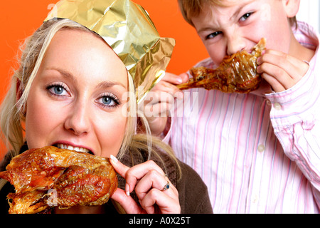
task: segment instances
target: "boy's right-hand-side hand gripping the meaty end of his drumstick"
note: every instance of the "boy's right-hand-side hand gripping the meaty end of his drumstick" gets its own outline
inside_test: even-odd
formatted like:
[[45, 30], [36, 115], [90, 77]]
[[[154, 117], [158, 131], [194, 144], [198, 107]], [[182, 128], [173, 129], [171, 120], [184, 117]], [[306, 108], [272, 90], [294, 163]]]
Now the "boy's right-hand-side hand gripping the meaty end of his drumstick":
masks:
[[257, 73], [261, 73], [276, 93], [292, 88], [309, 69], [308, 63], [270, 49], [257, 59], [257, 64]]

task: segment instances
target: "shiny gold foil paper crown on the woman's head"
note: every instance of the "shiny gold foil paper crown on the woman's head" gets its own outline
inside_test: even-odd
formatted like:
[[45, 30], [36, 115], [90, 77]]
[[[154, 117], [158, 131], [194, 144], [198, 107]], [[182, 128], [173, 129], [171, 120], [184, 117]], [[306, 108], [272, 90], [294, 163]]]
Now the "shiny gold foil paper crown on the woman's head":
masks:
[[164, 76], [175, 41], [159, 36], [142, 6], [129, 0], [62, 0], [45, 21], [55, 18], [75, 21], [109, 44], [134, 79], [138, 103]]

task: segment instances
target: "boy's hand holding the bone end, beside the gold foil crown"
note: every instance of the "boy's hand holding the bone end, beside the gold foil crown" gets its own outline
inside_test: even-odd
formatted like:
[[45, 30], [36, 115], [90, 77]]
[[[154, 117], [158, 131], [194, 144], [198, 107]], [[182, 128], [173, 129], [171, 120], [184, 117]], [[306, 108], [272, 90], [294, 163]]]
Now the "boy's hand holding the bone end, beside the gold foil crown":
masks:
[[148, 120], [152, 135], [160, 136], [164, 132], [169, 110], [174, 106], [174, 99], [183, 99], [183, 93], [176, 88], [176, 85], [186, 81], [188, 81], [186, 73], [180, 76], [166, 73], [164, 78], [144, 98], [144, 115]]

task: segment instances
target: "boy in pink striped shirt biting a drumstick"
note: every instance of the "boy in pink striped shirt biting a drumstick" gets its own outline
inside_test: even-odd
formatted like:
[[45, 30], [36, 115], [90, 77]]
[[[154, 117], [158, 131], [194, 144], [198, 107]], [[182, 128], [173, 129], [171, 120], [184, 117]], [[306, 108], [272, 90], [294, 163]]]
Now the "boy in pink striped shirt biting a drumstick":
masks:
[[[151, 132], [201, 175], [215, 213], [319, 213], [319, 36], [291, 23], [299, 0], [178, 2], [210, 55], [197, 66], [216, 68], [265, 37], [264, 81], [249, 94], [185, 90], [171, 116], [149, 118]], [[166, 113], [187, 79], [166, 73], [152, 90], [160, 102], [148, 105]]]

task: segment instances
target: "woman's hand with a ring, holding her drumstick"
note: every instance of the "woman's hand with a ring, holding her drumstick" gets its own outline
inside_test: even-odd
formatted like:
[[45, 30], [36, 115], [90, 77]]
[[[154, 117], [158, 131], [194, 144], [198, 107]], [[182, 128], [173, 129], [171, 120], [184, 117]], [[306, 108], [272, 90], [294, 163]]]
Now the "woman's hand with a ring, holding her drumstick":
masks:
[[[134, 167], [127, 167], [110, 156], [110, 162], [114, 170], [126, 180], [125, 192], [117, 188], [112, 199], [117, 201], [129, 214], [176, 214], [181, 212], [178, 190], [171, 185], [164, 171], [149, 160]], [[169, 188], [164, 187], [169, 183]], [[139, 204], [129, 196], [135, 189]]]

